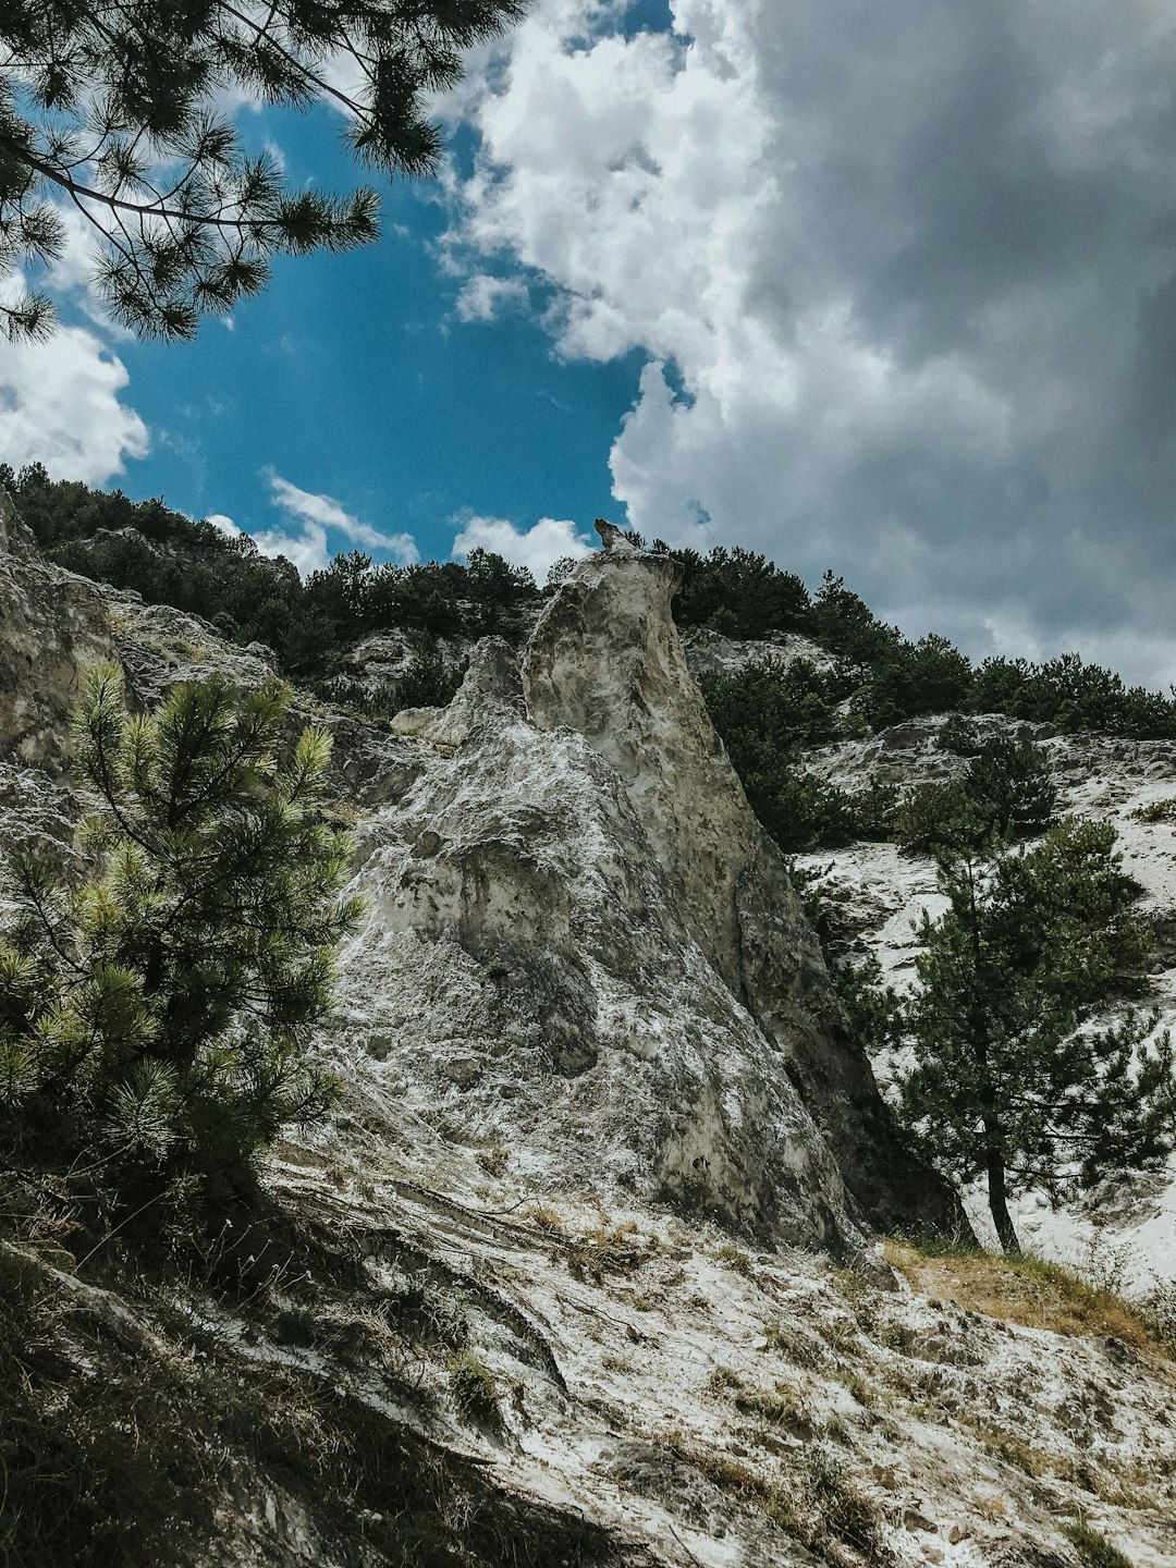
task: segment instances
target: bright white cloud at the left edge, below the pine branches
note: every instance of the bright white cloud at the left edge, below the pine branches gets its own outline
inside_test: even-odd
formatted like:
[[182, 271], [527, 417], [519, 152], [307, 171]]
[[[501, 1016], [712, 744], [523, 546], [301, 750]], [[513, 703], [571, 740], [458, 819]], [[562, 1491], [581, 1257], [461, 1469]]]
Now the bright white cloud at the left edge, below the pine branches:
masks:
[[47, 343], [5, 343], [0, 455], [16, 469], [36, 461], [55, 478], [105, 483], [147, 455], [147, 426], [119, 400], [127, 379], [122, 361], [78, 326]]

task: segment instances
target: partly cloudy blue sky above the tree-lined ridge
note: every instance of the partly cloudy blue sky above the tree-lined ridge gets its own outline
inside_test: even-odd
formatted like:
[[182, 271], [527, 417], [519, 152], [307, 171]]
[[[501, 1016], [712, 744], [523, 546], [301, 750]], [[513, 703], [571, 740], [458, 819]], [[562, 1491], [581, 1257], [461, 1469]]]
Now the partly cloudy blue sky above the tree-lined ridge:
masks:
[[[610, 517], [974, 657], [1176, 681], [1176, 0], [533, 0], [383, 240], [0, 347], [0, 456], [282, 550], [543, 580]], [[240, 111], [348, 187], [326, 108]]]

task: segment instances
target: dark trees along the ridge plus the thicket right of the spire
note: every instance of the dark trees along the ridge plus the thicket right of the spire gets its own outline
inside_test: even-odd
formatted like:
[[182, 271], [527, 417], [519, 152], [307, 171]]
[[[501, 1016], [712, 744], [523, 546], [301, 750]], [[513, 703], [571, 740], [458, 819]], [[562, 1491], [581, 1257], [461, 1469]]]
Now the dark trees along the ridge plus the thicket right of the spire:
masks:
[[[464, 564], [417, 566], [373, 564], [353, 550], [303, 579], [290, 561], [260, 555], [246, 535], [160, 500], [135, 503], [118, 491], [53, 481], [39, 464], [19, 475], [0, 464], [0, 485], [13, 491], [50, 560], [199, 615], [230, 641], [263, 643], [285, 676], [375, 720], [447, 702], [463, 671], [453, 643], [489, 633], [519, 641], [543, 604], [530, 572], [485, 550]], [[668, 547], [654, 541], [652, 549]], [[833, 572], [809, 594], [800, 577], [740, 547], [676, 558], [684, 571], [673, 607], [681, 626], [765, 641], [801, 633], [823, 655], [751, 662], [699, 681], [748, 798], [786, 853], [887, 837], [925, 853], [975, 844], [989, 828], [1002, 836], [1044, 828], [1052, 795], [1030, 742], [982, 745], [974, 732], [969, 742], [971, 713], [1000, 712], [1060, 731], [1176, 735], [1176, 701], [1127, 688], [1077, 654], [972, 666], [942, 637], [903, 638]], [[549, 582], [569, 566], [557, 563]], [[401, 637], [408, 663], [390, 681], [354, 679], [348, 651], [381, 632]], [[930, 784], [903, 798], [870, 781], [848, 793], [804, 767], [814, 746], [924, 713], [955, 715], [944, 743], [971, 754], [960, 784]], [[1002, 748], [1008, 756], [997, 756]]]

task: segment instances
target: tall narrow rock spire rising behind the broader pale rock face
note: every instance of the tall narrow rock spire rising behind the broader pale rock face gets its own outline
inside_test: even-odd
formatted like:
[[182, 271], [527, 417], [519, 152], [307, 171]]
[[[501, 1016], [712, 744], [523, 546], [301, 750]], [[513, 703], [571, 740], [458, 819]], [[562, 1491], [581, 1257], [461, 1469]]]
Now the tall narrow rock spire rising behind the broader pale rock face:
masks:
[[839, 1040], [817, 939], [687, 668], [670, 613], [679, 579], [659, 554], [583, 561], [527, 646], [530, 718], [579, 731], [613, 765], [673, 908], [750, 1014], [765, 1076], [782, 1066], [795, 1082], [861, 1209], [881, 1226], [942, 1221], [946, 1190], [911, 1171], [869, 1063]]

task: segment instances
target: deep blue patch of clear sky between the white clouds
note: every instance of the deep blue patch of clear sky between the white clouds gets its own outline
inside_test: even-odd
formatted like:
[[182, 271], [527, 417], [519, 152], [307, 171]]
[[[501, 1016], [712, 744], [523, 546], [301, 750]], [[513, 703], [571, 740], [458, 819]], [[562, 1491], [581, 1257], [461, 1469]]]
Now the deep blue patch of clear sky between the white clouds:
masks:
[[[281, 149], [293, 183], [347, 190], [358, 172], [337, 127], [328, 110], [243, 121], [251, 141]], [[470, 138], [453, 140], [461, 168]], [[149, 453], [119, 485], [257, 532], [274, 525], [276, 472], [383, 532], [412, 533], [422, 558], [448, 557], [466, 511], [528, 527], [616, 510], [608, 448], [640, 356], [569, 364], [533, 317], [459, 320], [461, 279], [437, 251], [442, 191], [379, 188], [379, 245], [279, 259], [232, 329], [210, 321], [193, 343], [118, 345], [151, 428]], [[336, 530], [329, 544], [350, 547]]]

